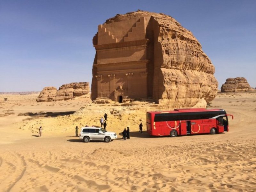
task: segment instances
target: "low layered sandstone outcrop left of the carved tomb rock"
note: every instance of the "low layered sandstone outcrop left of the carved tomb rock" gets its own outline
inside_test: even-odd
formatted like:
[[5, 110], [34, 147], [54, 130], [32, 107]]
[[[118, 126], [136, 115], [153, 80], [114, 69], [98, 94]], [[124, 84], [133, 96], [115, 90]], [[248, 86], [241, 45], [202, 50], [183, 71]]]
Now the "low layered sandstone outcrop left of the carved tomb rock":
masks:
[[68, 100], [74, 97], [85, 95], [87, 93], [89, 93], [89, 83], [70, 83], [60, 86], [58, 91], [55, 87], [45, 87], [36, 101], [42, 102]]

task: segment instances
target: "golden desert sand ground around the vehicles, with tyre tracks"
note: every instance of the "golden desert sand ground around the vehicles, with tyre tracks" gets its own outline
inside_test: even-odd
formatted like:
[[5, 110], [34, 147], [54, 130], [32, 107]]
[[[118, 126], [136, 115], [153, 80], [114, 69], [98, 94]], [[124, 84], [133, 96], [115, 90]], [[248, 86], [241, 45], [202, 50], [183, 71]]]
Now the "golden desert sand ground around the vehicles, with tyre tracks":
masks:
[[[157, 109], [146, 101], [37, 103], [37, 96], [0, 95], [0, 191], [256, 191], [256, 92], [218, 93], [210, 103], [234, 115], [229, 132], [175, 138], [146, 133], [146, 111]], [[75, 126], [100, 125], [105, 112], [116, 140], [74, 137]]]

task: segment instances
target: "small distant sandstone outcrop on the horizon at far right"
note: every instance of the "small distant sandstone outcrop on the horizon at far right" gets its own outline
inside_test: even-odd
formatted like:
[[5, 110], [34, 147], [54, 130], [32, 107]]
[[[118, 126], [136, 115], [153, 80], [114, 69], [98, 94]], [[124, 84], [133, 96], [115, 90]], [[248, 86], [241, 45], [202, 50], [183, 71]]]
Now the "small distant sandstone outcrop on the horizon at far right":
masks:
[[220, 88], [221, 92], [238, 92], [252, 90], [244, 77], [228, 78]]

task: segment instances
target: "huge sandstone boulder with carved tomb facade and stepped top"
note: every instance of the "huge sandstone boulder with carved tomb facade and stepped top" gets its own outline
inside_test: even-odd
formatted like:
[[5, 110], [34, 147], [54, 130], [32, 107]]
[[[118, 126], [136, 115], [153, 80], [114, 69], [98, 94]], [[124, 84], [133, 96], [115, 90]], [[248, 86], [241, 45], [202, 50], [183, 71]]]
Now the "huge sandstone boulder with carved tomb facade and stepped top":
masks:
[[217, 94], [212, 62], [170, 16], [118, 14], [99, 25], [93, 44], [93, 100], [153, 98], [169, 108], [206, 107]]

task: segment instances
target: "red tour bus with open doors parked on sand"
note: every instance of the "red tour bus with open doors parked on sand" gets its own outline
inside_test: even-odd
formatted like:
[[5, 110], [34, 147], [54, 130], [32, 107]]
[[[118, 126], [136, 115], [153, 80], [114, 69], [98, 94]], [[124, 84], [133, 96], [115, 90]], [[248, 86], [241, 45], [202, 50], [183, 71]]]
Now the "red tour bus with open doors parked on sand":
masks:
[[221, 133], [228, 131], [228, 115], [223, 109], [174, 109], [147, 112], [147, 132], [164, 136]]

